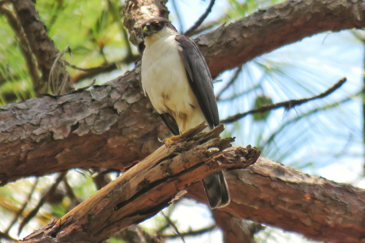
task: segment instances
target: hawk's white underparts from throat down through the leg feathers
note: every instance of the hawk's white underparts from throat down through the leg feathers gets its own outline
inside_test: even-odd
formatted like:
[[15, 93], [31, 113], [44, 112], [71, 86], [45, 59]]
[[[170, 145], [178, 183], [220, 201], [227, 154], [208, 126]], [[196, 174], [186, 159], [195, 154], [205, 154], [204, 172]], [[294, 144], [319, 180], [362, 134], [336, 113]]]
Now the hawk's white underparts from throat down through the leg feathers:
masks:
[[198, 101], [190, 88], [184, 64], [181, 61], [175, 35], [164, 27], [145, 38], [142, 57], [142, 87], [158, 113], [171, 113], [179, 130], [183, 131], [183, 117], [189, 130], [205, 121]]

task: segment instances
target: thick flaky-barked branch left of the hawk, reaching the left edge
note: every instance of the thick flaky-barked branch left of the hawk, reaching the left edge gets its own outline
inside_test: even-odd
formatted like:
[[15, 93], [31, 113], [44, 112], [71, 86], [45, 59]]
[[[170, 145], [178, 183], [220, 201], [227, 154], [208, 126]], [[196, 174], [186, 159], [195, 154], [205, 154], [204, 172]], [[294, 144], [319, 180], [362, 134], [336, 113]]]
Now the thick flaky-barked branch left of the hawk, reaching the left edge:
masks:
[[[0, 108], [0, 181], [74, 167], [123, 170], [167, 129], [144, 97], [140, 66], [103, 86]], [[165, 132], [165, 135], [164, 135]]]

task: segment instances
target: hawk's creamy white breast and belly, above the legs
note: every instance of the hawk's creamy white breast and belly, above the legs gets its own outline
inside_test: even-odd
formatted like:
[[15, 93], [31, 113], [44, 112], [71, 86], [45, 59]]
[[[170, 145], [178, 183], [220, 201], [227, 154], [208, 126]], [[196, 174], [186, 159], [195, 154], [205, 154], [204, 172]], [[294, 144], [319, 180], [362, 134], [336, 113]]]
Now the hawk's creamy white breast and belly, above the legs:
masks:
[[158, 113], [189, 113], [197, 105], [178, 53], [175, 36], [161, 38], [143, 52], [142, 86]]

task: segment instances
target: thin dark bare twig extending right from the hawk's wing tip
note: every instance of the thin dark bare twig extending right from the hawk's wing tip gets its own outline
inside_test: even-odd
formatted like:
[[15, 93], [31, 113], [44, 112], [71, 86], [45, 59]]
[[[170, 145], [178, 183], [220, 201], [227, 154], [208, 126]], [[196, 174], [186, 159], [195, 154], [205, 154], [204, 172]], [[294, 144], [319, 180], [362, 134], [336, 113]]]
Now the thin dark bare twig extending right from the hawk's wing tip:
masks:
[[331, 93], [333, 93], [338, 88], [340, 88], [346, 81], [347, 81], [346, 78], [342, 78], [335, 85], [333, 85], [331, 88], [327, 89], [325, 92], [320, 93], [319, 95], [316, 95], [316, 96], [312, 96], [310, 98], [298, 99], [298, 100], [287, 100], [287, 101], [279, 102], [279, 103], [276, 103], [276, 104], [262, 105], [261, 107], [258, 107], [256, 109], [252, 109], [250, 111], [246, 111], [246, 112], [243, 112], [243, 113], [238, 113], [234, 116], [229, 116], [226, 119], [221, 120], [220, 122], [221, 123], [232, 123], [232, 122], [237, 121], [237, 120], [241, 119], [242, 117], [245, 117], [249, 114], [264, 113], [266, 111], [271, 111], [271, 110], [281, 108], [281, 107], [285, 107], [285, 109], [288, 110], [288, 109], [293, 108], [295, 106], [307, 103], [308, 101], [321, 99], [323, 97], [326, 97], [326, 96], [330, 95]]

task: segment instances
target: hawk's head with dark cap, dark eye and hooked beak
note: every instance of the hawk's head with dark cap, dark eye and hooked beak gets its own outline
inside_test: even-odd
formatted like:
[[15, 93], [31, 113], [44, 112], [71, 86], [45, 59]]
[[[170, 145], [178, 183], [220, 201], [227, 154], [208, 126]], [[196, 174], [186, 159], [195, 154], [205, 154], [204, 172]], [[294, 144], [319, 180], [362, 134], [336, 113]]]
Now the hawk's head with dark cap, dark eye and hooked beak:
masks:
[[142, 23], [143, 38], [146, 40], [157, 40], [164, 36], [177, 35], [176, 28], [169, 20], [164, 18], [152, 18]]

